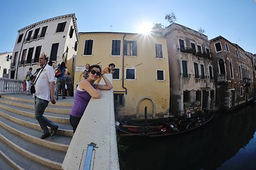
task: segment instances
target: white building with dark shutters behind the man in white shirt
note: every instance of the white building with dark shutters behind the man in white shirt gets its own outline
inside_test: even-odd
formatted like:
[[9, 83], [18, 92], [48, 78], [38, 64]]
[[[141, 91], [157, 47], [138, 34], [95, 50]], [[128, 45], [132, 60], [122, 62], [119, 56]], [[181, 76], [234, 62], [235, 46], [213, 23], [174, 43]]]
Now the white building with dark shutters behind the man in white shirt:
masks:
[[18, 30], [11, 59], [11, 79], [23, 80], [29, 67], [35, 72], [42, 52], [47, 55], [48, 61], [53, 62], [54, 67], [65, 62], [70, 75], [73, 75], [77, 46], [75, 13], [56, 16], [21, 28]]

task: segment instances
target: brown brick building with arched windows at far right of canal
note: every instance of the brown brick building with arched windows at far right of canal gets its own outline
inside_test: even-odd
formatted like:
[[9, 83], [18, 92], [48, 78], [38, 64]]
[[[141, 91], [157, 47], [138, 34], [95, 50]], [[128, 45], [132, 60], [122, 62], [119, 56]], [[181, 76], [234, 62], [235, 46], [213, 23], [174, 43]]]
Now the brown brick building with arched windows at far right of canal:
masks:
[[215, 81], [216, 106], [230, 111], [253, 96], [252, 58], [239, 45], [222, 36], [210, 40]]

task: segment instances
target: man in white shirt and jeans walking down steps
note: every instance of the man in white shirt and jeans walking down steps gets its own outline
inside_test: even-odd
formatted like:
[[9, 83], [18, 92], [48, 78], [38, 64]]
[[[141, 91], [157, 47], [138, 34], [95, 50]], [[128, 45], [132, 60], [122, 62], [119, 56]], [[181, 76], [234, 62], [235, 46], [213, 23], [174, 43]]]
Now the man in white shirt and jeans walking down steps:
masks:
[[[39, 57], [39, 65], [41, 70], [38, 72], [35, 79], [35, 118], [38, 120], [38, 123], [43, 130], [41, 139], [44, 139], [50, 135], [55, 135], [58, 130], [58, 125], [55, 125], [48, 120], [48, 118], [43, 116], [49, 101], [53, 104], [56, 103], [54, 98], [55, 77], [53, 67], [50, 67], [47, 64], [47, 57], [44, 53]], [[51, 133], [49, 132], [48, 127], [51, 129]]]

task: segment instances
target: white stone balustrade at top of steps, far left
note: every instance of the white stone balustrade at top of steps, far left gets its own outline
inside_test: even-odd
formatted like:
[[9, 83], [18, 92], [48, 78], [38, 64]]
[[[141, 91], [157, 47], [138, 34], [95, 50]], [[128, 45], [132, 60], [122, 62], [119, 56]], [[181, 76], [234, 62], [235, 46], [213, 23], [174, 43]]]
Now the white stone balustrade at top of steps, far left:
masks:
[[23, 80], [0, 78], [0, 94], [25, 93]]

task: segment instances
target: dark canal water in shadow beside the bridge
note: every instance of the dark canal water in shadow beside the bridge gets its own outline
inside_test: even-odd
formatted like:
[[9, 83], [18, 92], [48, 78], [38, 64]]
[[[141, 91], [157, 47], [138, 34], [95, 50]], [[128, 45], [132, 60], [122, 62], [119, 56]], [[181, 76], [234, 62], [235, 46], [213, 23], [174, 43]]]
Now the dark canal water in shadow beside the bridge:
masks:
[[207, 125], [180, 135], [121, 137], [120, 169], [255, 170], [255, 130], [256, 105], [250, 105], [216, 113]]

